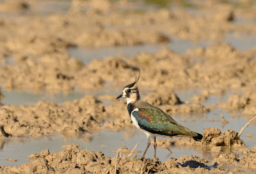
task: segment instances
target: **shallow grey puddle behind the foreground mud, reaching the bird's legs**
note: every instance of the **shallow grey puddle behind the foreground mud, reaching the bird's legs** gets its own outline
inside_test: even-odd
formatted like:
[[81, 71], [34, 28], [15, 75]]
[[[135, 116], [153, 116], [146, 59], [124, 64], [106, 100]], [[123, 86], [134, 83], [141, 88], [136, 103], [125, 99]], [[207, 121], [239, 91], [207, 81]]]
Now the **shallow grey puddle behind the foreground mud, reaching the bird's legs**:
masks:
[[[102, 130], [99, 131], [99, 136], [97, 134], [94, 135], [92, 141], [84, 141], [83, 138], [74, 138], [72, 137], [64, 137], [61, 138], [60, 135], [52, 135], [52, 136], [44, 136], [43, 138], [20, 138], [20, 139], [7, 139], [5, 141], [1, 141], [1, 149], [0, 149], [0, 166], [16, 166], [23, 163], [27, 163], [28, 156], [33, 153], [39, 153], [42, 150], [49, 149], [50, 152], [58, 152], [61, 150], [62, 145], [67, 145], [70, 143], [78, 143], [81, 145], [83, 149], [99, 151], [101, 150], [105, 156], [115, 157], [116, 150], [118, 150], [122, 145], [125, 145], [129, 150], [132, 150], [136, 143], [138, 143], [138, 147], [136, 150], [140, 150], [141, 152], [138, 154], [138, 157], [142, 155], [147, 146], [147, 138], [144, 133], [141, 133], [140, 130], [134, 127], [133, 130], [135, 133], [134, 136], [127, 138], [129, 136], [126, 132], [112, 132]], [[124, 135], [126, 134], [126, 135]], [[157, 157], [161, 161], [166, 161], [170, 157], [180, 157], [184, 155], [196, 155], [200, 157], [205, 157], [204, 153], [202, 154], [202, 149], [200, 147], [191, 147], [191, 146], [172, 146], [170, 147], [172, 150], [172, 154], [170, 155], [167, 149], [162, 149], [161, 147], [157, 148]], [[208, 153], [207, 153], [208, 154]], [[133, 154], [135, 156], [136, 153]], [[208, 156], [208, 155], [207, 155]], [[145, 157], [154, 157], [154, 147], [150, 146], [148, 152]], [[16, 163], [6, 161], [6, 159], [17, 159]], [[212, 156], [208, 156], [206, 159], [211, 160]]]

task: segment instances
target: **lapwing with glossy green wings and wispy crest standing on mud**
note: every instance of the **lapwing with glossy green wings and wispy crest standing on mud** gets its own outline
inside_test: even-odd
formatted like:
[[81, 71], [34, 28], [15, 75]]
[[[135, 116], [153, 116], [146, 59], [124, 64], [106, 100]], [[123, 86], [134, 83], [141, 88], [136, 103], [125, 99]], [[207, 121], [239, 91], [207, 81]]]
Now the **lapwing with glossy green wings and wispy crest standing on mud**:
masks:
[[[138, 69], [140, 73], [140, 69]], [[147, 147], [143, 153], [141, 159], [145, 157], [145, 154], [150, 146], [150, 138], [154, 139], [154, 160], [156, 160], [156, 136], [168, 136], [173, 139], [173, 136], [177, 137], [189, 137], [196, 141], [201, 141], [203, 136], [200, 133], [191, 131], [190, 129], [181, 126], [170, 115], [163, 112], [160, 108], [154, 105], [150, 105], [147, 101], [143, 101], [140, 98], [140, 92], [137, 82], [140, 79], [140, 74], [137, 78], [135, 74], [135, 81], [129, 85], [126, 85], [122, 94], [116, 99], [126, 98], [127, 110], [131, 117], [132, 123], [140, 131], [147, 135]]]

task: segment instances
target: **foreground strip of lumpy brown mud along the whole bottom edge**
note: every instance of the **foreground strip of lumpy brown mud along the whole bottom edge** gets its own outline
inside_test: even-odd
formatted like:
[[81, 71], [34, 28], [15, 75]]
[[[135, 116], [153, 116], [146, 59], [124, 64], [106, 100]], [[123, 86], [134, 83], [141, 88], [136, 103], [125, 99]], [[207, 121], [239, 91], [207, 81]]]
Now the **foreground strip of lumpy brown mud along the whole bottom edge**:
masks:
[[[246, 157], [236, 154], [217, 154], [212, 162], [196, 156], [182, 156], [168, 161], [136, 159], [127, 157], [131, 150], [122, 147], [116, 157], [106, 157], [102, 152], [81, 149], [79, 145], [70, 144], [54, 153], [43, 150], [40, 154], [31, 154], [29, 163], [20, 166], [1, 166], [1, 173], [252, 173], [255, 171], [255, 147], [247, 150]], [[234, 166], [226, 169], [225, 165]], [[228, 167], [230, 168], [230, 167]], [[254, 170], [253, 170], [254, 169]]]

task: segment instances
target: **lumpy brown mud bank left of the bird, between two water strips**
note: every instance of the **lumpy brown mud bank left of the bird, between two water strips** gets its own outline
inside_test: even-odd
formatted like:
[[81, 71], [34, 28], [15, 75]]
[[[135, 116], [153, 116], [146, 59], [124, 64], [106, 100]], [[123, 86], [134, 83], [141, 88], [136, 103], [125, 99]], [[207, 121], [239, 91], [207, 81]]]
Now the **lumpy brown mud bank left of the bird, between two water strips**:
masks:
[[3, 105], [1, 129], [10, 136], [84, 133], [100, 128], [100, 122], [106, 118], [104, 110], [104, 105], [93, 96], [61, 105], [46, 101], [33, 106]]

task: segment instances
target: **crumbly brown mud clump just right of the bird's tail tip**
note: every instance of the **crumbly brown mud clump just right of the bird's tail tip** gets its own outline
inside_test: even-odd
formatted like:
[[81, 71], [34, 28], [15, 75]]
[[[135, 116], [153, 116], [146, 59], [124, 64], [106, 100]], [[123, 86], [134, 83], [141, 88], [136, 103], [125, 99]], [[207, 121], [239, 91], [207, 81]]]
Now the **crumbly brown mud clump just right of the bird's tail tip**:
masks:
[[203, 132], [203, 145], [239, 145], [243, 146], [243, 140], [237, 136], [237, 132], [232, 129], [227, 129], [224, 133], [221, 133], [220, 129], [216, 127], [207, 127]]

